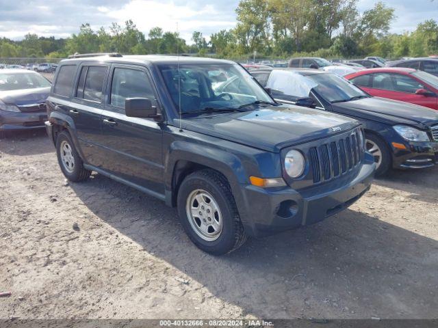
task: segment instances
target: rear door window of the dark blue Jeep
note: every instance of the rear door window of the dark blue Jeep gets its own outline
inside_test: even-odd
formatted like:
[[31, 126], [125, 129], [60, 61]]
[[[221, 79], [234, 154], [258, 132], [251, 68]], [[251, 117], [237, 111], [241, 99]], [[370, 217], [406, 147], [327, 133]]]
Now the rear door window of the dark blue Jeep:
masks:
[[86, 100], [101, 101], [105, 66], [84, 66], [81, 69], [76, 96]]

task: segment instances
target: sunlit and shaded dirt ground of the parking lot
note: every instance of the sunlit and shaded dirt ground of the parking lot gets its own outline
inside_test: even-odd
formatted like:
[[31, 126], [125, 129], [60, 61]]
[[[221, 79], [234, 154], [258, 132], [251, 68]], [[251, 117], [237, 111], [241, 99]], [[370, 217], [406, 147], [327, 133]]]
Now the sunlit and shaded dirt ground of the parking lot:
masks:
[[159, 200], [67, 184], [44, 133], [0, 140], [0, 172], [0, 318], [437, 317], [438, 168], [222, 257]]

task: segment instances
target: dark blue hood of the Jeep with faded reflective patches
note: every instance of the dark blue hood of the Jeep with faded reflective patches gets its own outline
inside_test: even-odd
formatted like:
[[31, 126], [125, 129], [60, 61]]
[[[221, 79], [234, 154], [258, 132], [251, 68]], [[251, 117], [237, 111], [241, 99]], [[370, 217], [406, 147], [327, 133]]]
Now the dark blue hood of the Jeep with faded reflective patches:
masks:
[[182, 123], [190, 131], [270, 152], [342, 133], [360, 124], [342, 115], [292, 105], [201, 115]]

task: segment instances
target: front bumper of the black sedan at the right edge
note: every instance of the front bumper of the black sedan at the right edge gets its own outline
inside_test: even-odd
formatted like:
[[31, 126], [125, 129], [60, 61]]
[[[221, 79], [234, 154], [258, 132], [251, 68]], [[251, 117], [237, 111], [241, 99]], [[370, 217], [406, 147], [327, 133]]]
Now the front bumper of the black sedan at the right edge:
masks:
[[393, 148], [393, 167], [423, 169], [438, 164], [438, 142], [405, 141], [406, 150]]

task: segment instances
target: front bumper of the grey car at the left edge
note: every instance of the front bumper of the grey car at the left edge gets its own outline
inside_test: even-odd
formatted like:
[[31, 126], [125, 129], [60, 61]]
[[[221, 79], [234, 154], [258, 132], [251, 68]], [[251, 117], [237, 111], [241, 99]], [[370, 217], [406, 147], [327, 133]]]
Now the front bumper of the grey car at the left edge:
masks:
[[46, 111], [32, 113], [0, 111], [0, 130], [15, 131], [32, 128], [44, 128], [44, 121], [46, 120]]

